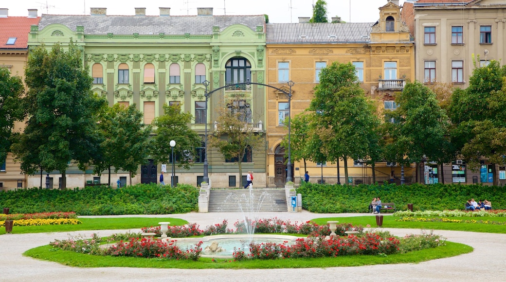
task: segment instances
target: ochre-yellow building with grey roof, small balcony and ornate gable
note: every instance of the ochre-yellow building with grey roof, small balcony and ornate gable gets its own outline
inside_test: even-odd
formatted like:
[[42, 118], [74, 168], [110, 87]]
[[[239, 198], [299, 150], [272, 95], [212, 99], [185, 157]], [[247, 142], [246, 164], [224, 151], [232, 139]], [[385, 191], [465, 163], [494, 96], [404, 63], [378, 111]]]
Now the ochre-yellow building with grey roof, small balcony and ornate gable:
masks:
[[[379, 8], [376, 23], [309, 23], [309, 18], [299, 18], [299, 23], [267, 24], [267, 82], [287, 92], [290, 90], [288, 82], [294, 82], [290, 110], [284, 93], [267, 89], [268, 186], [284, 185], [286, 159], [280, 143], [287, 129], [283, 120], [288, 112], [293, 117], [309, 107], [321, 68], [334, 61], [352, 62], [366, 97], [386, 110], [396, 108], [395, 93], [402, 91], [406, 81], [414, 80], [415, 70], [414, 41], [408, 27], [400, 20], [400, 11], [398, 1], [390, 0]], [[338, 182], [336, 164], [308, 162], [307, 167], [311, 182], [320, 177], [327, 183]], [[371, 182], [371, 168], [359, 160], [349, 159], [348, 168], [352, 179], [344, 179], [341, 163], [341, 183]], [[303, 161], [294, 162], [293, 181], [298, 183], [304, 173]], [[407, 183], [414, 173], [414, 168], [405, 168]], [[400, 167], [387, 162], [376, 165], [376, 181], [391, 177], [400, 178]]]

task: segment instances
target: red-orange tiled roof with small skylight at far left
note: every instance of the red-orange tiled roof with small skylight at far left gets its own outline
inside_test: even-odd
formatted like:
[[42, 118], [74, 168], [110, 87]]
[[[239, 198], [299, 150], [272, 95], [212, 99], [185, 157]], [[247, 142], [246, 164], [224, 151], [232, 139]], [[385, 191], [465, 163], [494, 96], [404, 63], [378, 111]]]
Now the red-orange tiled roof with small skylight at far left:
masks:
[[[28, 33], [31, 25], [37, 25], [40, 17], [7, 17], [0, 18], [0, 49], [27, 49]], [[7, 45], [7, 40], [17, 37], [14, 45]]]

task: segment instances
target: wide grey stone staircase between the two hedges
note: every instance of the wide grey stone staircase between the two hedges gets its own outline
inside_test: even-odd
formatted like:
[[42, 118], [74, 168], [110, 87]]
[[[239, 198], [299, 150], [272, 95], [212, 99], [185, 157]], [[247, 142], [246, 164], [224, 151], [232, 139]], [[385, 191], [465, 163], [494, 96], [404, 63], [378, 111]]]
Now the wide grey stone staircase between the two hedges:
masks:
[[209, 212], [286, 212], [284, 188], [211, 189]]

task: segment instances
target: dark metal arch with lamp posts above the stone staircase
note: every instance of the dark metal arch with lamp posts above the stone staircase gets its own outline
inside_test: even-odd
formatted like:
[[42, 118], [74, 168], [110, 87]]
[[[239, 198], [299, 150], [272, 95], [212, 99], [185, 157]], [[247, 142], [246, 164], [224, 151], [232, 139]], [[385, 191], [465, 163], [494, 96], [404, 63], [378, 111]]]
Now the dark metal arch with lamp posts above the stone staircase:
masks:
[[204, 80], [203, 84], [205, 86], [204, 96], [205, 96], [205, 119], [206, 120], [205, 120], [205, 141], [204, 141], [204, 143], [205, 143], [204, 176], [202, 177], [202, 182], [209, 183], [209, 176], [208, 176], [209, 163], [207, 162], [207, 100], [209, 99], [209, 96], [211, 96], [216, 91], [230, 87], [230, 85], [251, 85], [251, 84], [262, 85], [262, 86], [274, 88], [278, 91], [281, 91], [282, 93], [284, 93], [288, 97], [288, 160], [286, 163], [286, 170], [287, 170], [286, 182], [293, 181], [292, 171], [291, 171], [291, 169], [292, 169], [291, 168], [291, 166], [292, 166], [291, 165], [291, 152], [290, 152], [290, 116], [291, 116], [291, 86], [293, 86], [295, 84], [295, 82], [293, 82], [291, 80], [287, 82], [288, 86], [290, 87], [288, 92], [286, 92], [285, 90], [283, 90], [281, 88], [278, 88], [278, 87], [275, 87], [275, 86], [272, 86], [269, 84], [251, 82], [251, 81], [249, 81], [249, 79], [246, 82], [237, 82], [237, 83], [226, 84], [225, 86], [221, 86], [221, 87], [216, 88], [216, 89], [209, 91], [209, 92], [207, 92], [207, 86], [209, 86], [209, 81]]

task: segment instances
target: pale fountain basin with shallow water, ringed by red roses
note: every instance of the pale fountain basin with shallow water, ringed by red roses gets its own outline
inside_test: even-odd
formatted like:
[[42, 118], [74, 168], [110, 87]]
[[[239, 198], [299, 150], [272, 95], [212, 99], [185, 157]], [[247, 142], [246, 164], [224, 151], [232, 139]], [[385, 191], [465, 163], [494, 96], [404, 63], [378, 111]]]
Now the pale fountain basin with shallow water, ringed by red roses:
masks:
[[[173, 238], [176, 241], [176, 246], [181, 248], [182, 250], [187, 248], [192, 248], [194, 244], [202, 241], [202, 254], [201, 257], [211, 257], [211, 258], [231, 258], [234, 252], [234, 247], [236, 249], [243, 250], [246, 254], [249, 254], [249, 243], [254, 241], [255, 243], [276, 243], [282, 244], [285, 241], [288, 241], [288, 245], [292, 245], [299, 238], [296, 236], [288, 236], [288, 235], [276, 235], [276, 234], [220, 234], [220, 235], [212, 235], [205, 236], [202, 238]], [[241, 241], [245, 241], [244, 249]], [[213, 242], [218, 242], [218, 245], [224, 249], [223, 252], [204, 252], [205, 247], [211, 245]]]

